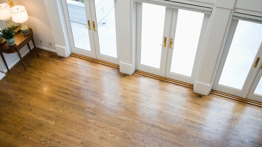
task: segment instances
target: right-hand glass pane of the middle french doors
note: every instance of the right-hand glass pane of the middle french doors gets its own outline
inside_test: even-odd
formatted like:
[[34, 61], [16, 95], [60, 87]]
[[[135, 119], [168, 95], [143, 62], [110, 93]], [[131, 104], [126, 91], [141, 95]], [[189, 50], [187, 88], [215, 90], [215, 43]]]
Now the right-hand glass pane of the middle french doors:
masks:
[[204, 14], [178, 10], [170, 72], [191, 77]]

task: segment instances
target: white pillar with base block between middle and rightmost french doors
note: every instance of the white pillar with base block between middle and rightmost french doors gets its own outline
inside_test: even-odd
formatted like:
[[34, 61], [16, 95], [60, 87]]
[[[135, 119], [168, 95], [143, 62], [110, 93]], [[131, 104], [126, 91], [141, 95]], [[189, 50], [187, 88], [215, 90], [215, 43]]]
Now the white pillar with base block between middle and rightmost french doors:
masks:
[[194, 84], [194, 92], [196, 93], [207, 95], [211, 91], [231, 17], [231, 9], [222, 7], [213, 8], [196, 82]]

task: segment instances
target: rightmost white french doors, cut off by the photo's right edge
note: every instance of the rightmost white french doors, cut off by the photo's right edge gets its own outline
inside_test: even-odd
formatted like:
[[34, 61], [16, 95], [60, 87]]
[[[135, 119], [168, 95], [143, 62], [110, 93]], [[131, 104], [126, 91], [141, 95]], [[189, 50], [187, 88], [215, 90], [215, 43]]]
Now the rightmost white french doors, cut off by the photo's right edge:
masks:
[[262, 102], [262, 21], [243, 19], [232, 20], [212, 89]]

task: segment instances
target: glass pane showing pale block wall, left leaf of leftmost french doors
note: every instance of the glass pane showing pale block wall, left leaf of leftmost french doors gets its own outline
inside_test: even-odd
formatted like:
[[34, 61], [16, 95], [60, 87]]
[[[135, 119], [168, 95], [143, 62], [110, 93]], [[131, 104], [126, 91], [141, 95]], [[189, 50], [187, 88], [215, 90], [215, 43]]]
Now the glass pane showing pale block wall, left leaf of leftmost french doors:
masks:
[[91, 51], [84, 3], [66, 0], [66, 4], [75, 48]]

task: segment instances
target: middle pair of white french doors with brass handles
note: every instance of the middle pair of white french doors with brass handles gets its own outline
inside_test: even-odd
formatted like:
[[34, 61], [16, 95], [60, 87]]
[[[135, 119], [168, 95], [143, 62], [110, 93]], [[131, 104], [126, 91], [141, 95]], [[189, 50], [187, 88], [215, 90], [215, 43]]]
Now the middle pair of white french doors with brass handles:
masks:
[[137, 3], [136, 69], [194, 83], [209, 14]]

